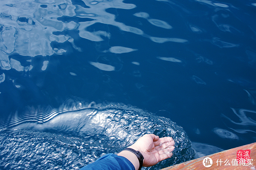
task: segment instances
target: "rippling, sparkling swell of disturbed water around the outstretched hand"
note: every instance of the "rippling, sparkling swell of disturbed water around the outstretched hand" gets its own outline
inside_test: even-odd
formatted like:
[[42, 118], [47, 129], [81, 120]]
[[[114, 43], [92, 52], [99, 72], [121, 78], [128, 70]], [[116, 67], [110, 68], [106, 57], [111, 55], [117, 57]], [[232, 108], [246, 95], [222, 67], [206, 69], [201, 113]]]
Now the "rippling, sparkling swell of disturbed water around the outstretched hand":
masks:
[[70, 100], [59, 109], [31, 107], [9, 120], [8, 128], [0, 129], [1, 169], [76, 170], [106, 153], [118, 153], [146, 133], [171, 136], [175, 150], [172, 158], [144, 169], [157, 170], [195, 155], [182, 127], [123, 104]]

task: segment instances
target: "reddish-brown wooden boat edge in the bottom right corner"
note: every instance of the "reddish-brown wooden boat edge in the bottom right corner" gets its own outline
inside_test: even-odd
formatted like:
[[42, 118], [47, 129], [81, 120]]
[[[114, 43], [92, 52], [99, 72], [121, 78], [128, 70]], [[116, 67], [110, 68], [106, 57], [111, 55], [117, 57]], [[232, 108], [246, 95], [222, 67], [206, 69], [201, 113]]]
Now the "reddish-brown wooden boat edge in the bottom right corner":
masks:
[[[236, 151], [238, 150], [247, 150], [250, 149], [250, 159], [253, 159], [252, 165], [243, 166], [242, 164], [238, 166], [234, 166], [232, 164], [232, 160], [236, 159]], [[212, 166], [205, 167], [203, 164], [204, 158], [211, 158], [212, 159]], [[218, 162], [217, 160], [223, 161]], [[227, 160], [227, 161], [226, 161]], [[226, 163], [224, 163], [226, 161]], [[224, 165], [227, 164], [227, 165]], [[228, 165], [230, 164], [230, 165]], [[209, 156], [204, 156], [201, 158], [193, 159], [191, 161], [186, 161], [180, 164], [173, 165], [171, 167], [166, 167], [162, 170], [256, 170], [256, 142], [252, 144], [247, 144], [241, 147], [236, 147], [230, 150], [224, 150], [219, 153], [215, 153]]]

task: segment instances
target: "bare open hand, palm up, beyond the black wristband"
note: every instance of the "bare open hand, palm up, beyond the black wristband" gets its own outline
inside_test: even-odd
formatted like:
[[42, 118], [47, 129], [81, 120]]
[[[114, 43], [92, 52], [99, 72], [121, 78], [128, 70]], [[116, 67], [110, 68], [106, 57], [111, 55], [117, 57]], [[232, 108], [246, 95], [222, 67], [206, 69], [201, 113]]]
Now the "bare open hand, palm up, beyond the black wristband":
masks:
[[159, 138], [154, 134], [146, 134], [129, 148], [139, 150], [144, 157], [143, 166], [151, 167], [166, 158], [171, 158], [174, 144], [175, 141], [171, 137]]

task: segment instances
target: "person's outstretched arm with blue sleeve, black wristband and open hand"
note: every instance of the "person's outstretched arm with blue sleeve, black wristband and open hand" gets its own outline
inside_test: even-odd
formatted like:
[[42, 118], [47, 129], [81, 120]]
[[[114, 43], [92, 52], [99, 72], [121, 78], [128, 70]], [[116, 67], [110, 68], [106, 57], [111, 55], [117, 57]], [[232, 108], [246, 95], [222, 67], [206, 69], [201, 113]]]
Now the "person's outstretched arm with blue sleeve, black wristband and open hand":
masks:
[[175, 142], [171, 137], [159, 138], [154, 134], [143, 135], [130, 149], [117, 155], [107, 154], [81, 170], [139, 170], [140, 166], [151, 167], [166, 158], [171, 158]]

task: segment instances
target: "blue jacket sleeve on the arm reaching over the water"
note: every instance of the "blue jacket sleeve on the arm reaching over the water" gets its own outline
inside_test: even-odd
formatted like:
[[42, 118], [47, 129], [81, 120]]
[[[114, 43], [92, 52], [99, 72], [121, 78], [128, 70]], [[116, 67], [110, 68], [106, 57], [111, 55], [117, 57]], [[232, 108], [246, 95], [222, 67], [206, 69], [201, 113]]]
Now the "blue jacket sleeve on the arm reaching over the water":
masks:
[[110, 153], [80, 170], [135, 170], [135, 168], [127, 158]]

